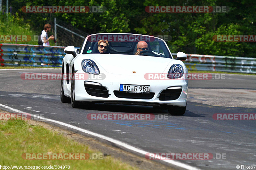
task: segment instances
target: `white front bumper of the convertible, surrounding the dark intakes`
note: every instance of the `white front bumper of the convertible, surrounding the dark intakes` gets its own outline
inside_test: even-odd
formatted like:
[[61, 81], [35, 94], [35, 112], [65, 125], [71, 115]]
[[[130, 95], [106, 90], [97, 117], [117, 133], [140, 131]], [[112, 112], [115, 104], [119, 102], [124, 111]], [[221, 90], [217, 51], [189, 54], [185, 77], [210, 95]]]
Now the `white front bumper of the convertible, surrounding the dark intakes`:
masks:
[[[81, 73], [84, 73], [81, 71]], [[95, 82], [102, 85], [102, 89], [108, 91], [108, 97], [97, 97], [89, 95], [84, 87], [84, 82]], [[120, 84], [131, 84], [131, 85], [150, 85], [150, 99], [138, 99], [137, 98], [122, 98], [117, 95], [119, 92]], [[166, 90], [168, 87], [181, 86], [182, 90], [180, 96], [176, 100], [159, 100], [161, 92]], [[147, 80], [144, 75], [120, 75], [108, 73], [104, 79], [87, 79], [87, 80], [75, 80], [75, 98], [76, 101], [92, 101], [92, 102], [113, 102], [113, 103], [133, 103], [139, 105], [172, 105], [185, 107], [187, 104], [187, 92], [188, 92], [188, 80], [177, 80], [177, 79], [165, 79], [165, 80]], [[120, 94], [120, 93], [119, 93]], [[142, 96], [137, 93], [136, 96]]]

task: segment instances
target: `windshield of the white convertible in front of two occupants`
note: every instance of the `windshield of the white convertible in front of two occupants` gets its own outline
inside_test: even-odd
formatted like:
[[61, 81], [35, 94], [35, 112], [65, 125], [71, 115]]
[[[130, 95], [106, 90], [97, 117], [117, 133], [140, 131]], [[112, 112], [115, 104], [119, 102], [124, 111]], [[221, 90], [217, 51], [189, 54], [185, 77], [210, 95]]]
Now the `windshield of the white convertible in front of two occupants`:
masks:
[[107, 40], [108, 48], [105, 54], [126, 54], [134, 55], [137, 52], [139, 41], [148, 44], [147, 49], [141, 49], [140, 55], [172, 58], [164, 41], [153, 36], [133, 34], [95, 34], [86, 37], [87, 41], [82, 54], [100, 53], [98, 41]]

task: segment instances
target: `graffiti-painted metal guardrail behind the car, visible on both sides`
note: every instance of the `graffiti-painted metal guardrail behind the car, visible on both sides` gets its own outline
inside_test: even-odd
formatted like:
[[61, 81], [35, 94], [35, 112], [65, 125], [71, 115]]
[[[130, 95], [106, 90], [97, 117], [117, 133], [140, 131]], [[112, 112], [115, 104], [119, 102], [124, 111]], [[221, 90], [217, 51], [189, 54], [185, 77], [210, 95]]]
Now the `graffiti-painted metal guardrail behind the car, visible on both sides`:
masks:
[[[0, 44], [0, 66], [61, 67], [65, 56], [64, 48]], [[172, 55], [176, 56], [177, 53]], [[184, 62], [188, 70], [256, 73], [256, 58], [187, 54], [187, 60]]]

